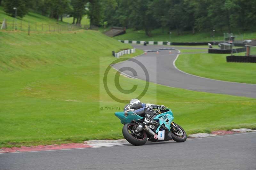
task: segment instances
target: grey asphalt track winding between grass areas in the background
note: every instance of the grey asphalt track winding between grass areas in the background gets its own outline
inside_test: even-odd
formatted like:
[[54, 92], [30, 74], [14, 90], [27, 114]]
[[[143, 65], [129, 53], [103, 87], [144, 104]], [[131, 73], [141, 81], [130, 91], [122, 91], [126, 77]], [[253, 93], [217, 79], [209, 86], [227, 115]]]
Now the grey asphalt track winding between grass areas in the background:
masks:
[[[159, 48], [167, 48], [166, 46], [160, 45], [133, 45], [137, 49], [141, 50], [153, 50]], [[181, 49], [181, 48], [180, 48]], [[186, 48], [186, 49], [200, 49], [200, 48]], [[204, 48], [201, 48], [204, 49]], [[182, 89], [189, 89], [195, 91], [204, 91], [209, 93], [220, 93], [235, 96], [244, 96], [256, 98], [256, 84], [245, 84], [245, 83], [234, 83], [227, 81], [217, 81], [194, 75], [189, 75], [181, 72], [173, 65], [173, 61], [178, 55], [178, 50], [162, 50], [157, 54], [156, 52], [148, 52], [147, 54], [135, 57], [136, 60], [140, 61], [148, 70], [148, 74], [151, 82], [158, 84], [177, 87]], [[137, 72], [136, 78], [146, 80], [145, 73], [140, 66], [131, 61], [124, 61], [115, 64], [115, 69], [122, 67], [131, 67]], [[133, 74], [130, 71], [124, 71], [123, 73], [130, 75]]]

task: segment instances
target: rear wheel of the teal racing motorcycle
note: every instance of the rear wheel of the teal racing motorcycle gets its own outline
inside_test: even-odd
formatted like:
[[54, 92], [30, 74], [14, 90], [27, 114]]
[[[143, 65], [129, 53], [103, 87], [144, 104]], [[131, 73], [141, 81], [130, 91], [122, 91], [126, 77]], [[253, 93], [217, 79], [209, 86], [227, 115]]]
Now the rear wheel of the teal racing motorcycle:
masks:
[[124, 138], [131, 144], [138, 146], [138, 145], [144, 145], [147, 140], [147, 134], [146, 132], [143, 130], [140, 132], [140, 135], [135, 135], [134, 131], [137, 128], [137, 124], [135, 123], [126, 123], [123, 127], [123, 135]]

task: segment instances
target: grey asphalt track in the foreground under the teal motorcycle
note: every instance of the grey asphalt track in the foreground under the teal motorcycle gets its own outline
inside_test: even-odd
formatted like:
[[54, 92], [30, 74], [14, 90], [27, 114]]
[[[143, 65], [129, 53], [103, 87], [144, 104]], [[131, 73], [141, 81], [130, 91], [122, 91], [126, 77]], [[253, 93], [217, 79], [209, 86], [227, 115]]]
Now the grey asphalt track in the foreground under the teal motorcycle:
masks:
[[188, 139], [184, 143], [146, 143], [59, 151], [0, 154], [1, 170], [84, 169], [256, 169], [256, 132]]

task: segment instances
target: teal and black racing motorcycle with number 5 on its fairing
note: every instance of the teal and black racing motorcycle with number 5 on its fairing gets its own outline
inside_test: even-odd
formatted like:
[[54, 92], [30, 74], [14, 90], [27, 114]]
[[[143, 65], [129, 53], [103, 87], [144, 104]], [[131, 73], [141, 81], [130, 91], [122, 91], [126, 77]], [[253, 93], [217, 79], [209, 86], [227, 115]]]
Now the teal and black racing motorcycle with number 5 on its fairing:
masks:
[[144, 145], [147, 141], [160, 142], [174, 140], [176, 142], [185, 142], [187, 134], [180, 125], [174, 123], [171, 109], [154, 110], [149, 125], [143, 125], [143, 113], [134, 112], [116, 112], [115, 115], [124, 124], [122, 129], [124, 138], [133, 145]]

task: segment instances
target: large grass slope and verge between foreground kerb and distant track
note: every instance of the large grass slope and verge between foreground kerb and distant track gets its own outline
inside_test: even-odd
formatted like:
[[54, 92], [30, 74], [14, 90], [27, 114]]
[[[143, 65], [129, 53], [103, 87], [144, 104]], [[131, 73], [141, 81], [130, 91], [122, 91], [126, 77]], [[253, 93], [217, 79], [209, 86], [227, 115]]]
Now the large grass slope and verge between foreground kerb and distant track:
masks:
[[[120, 139], [115, 111], [124, 107], [105, 92], [102, 76], [112, 50], [131, 48], [100, 32], [34, 33], [0, 31], [0, 147]], [[137, 50], [133, 55], [143, 51]], [[132, 57], [129, 55], [129, 57]], [[114, 78], [111, 69], [108, 77]], [[117, 96], [133, 98], [145, 81], [120, 77], [121, 87], [138, 89]], [[156, 95], [157, 94], [157, 95]], [[188, 134], [217, 129], [256, 128], [256, 99], [195, 92], [150, 83], [143, 102], [169, 106]]]

